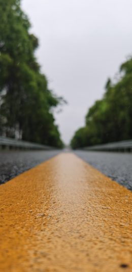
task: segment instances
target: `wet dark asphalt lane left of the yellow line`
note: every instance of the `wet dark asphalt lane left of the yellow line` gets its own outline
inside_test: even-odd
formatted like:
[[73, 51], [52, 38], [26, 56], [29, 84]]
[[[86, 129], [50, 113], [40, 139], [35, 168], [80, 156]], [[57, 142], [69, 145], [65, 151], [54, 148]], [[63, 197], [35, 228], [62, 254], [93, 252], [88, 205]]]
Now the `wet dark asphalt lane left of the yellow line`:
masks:
[[58, 154], [53, 151], [0, 151], [0, 184]]

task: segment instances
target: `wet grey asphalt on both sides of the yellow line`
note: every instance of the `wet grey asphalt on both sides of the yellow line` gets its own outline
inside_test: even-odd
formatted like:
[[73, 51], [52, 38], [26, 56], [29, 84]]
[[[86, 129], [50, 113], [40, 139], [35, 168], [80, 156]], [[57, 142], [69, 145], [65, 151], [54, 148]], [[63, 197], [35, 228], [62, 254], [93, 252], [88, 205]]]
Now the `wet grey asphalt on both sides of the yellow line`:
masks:
[[[70, 151], [71, 152], [71, 151]], [[0, 184], [60, 153], [0, 151]], [[75, 151], [76, 155], [132, 191], [132, 153]]]

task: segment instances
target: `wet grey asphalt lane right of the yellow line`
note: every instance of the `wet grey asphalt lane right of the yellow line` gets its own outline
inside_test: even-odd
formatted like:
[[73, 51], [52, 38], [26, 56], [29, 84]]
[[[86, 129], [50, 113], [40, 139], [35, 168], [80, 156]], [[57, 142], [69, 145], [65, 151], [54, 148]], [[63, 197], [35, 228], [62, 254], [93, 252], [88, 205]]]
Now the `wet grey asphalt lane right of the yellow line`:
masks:
[[75, 154], [132, 191], [132, 153], [75, 151]]

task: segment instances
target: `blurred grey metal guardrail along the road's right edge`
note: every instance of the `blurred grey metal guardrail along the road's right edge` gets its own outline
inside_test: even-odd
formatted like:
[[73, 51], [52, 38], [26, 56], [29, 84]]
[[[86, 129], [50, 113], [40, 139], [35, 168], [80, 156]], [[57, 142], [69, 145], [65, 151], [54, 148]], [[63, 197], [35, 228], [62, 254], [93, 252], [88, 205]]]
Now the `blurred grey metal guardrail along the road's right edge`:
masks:
[[84, 147], [83, 150], [95, 151], [130, 151], [132, 152], [132, 140], [108, 143], [103, 145]]

